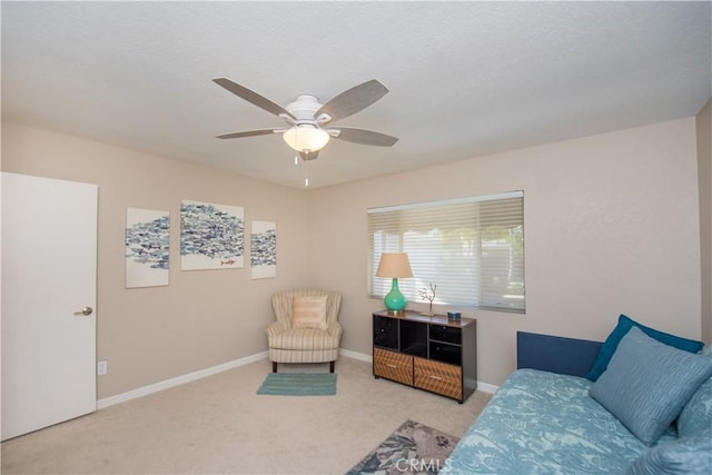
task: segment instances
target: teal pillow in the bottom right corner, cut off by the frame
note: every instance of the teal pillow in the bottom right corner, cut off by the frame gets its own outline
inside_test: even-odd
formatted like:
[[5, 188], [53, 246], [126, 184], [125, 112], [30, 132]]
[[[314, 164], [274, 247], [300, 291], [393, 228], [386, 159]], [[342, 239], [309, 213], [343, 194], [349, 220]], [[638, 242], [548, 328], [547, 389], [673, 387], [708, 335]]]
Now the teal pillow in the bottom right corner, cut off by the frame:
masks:
[[626, 475], [710, 475], [712, 429], [643, 452]]

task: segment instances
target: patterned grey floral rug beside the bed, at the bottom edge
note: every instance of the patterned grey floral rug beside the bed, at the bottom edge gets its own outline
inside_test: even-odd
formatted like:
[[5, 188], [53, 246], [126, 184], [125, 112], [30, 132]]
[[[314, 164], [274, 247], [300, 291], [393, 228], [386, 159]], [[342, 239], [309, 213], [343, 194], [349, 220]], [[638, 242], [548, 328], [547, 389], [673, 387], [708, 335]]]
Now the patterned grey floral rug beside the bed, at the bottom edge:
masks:
[[406, 420], [347, 475], [437, 474], [459, 442], [458, 437]]

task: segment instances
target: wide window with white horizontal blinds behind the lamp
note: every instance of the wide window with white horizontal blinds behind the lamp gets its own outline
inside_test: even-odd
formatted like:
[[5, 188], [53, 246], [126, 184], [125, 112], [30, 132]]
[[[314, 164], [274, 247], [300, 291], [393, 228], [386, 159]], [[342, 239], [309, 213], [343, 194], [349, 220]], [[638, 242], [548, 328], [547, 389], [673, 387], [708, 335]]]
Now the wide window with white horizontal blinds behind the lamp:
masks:
[[369, 293], [382, 253], [407, 253], [413, 278], [398, 287], [409, 301], [437, 286], [434, 304], [524, 313], [524, 192], [368, 209]]

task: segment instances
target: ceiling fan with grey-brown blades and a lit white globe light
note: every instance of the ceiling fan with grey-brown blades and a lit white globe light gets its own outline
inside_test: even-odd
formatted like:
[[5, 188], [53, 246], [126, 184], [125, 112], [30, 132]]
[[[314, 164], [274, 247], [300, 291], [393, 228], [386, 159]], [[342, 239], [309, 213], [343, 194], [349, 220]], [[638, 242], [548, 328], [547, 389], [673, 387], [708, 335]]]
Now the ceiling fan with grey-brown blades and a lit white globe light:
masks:
[[392, 147], [398, 141], [396, 137], [385, 133], [332, 126], [332, 122], [367, 108], [388, 92], [388, 89], [375, 79], [355, 86], [326, 103], [320, 103], [315, 96], [300, 95], [286, 107], [227, 78], [217, 78], [212, 81], [260, 109], [280, 117], [288, 126], [224, 133], [217, 136], [219, 139], [283, 133], [287, 145], [295, 149], [303, 160], [317, 158], [319, 150], [328, 144], [330, 138], [377, 147]]

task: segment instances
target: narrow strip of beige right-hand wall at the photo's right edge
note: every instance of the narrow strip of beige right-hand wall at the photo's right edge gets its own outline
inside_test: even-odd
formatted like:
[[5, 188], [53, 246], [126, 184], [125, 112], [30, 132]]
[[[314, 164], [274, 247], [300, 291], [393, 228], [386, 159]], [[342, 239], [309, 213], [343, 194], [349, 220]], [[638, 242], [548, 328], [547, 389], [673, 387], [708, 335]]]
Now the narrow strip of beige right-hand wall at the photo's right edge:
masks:
[[696, 117], [702, 261], [702, 337], [712, 342], [712, 99]]

